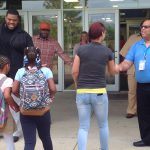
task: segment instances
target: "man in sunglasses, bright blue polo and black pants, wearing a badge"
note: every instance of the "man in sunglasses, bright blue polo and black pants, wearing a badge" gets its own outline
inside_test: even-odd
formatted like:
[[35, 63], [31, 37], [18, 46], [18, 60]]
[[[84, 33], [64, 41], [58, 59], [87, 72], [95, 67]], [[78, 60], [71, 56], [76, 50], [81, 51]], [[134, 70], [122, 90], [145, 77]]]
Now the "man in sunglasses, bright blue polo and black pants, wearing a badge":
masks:
[[136, 147], [150, 146], [150, 19], [141, 23], [142, 39], [127, 53], [125, 60], [116, 65], [116, 71], [126, 71], [133, 64], [137, 81], [137, 117], [141, 140]]

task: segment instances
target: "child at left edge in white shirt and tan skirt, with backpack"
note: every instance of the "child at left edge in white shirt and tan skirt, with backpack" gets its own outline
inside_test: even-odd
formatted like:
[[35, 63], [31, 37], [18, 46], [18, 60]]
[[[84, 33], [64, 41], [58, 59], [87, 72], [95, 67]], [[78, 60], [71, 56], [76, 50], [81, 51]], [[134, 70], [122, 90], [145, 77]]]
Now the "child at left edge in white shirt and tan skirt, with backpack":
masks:
[[13, 80], [6, 76], [9, 70], [9, 59], [0, 55], [0, 133], [4, 137], [7, 150], [15, 150], [13, 132], [16, 130], [16, 124], [9, 111], [9, 106], [16, 112], [19, 111], [19, 106], [11, 96]]

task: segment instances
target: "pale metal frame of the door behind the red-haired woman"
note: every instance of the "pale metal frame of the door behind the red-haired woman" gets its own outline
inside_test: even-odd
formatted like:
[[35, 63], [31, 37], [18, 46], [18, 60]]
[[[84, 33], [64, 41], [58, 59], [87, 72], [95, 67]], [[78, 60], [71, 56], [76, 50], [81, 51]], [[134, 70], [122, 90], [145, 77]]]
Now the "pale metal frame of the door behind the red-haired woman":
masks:
[[[89, 28], [89, 15], [91, 14], [103, 14], [103, 13], [113, 13], [115, 15], [115, 63], [119, 63], [119, 10], [116, 9], [86, 9], [85, 10], [85, 29], [88, 31]], [[119, 75], [115, 75], [115, 84], [107, 84], [107, 90], [108, 91], [119, 91], [120, 89], [120, 81], [119, 81]]]

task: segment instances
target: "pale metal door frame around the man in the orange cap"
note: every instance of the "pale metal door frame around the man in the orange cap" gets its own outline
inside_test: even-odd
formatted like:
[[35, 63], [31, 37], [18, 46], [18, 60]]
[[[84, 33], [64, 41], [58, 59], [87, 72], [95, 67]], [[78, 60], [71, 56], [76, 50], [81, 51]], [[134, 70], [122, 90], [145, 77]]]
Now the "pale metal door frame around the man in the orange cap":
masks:
[[[7, 10], [1, 10], [0, 16], [6, 16]], [[60, 10], [48, 10], [48, 11], [18, 11], [21, 16], [23, 16], [24, 21], [24, 30], [32, 36], [32, 15], [51, 15], [56, 14], [58, 16], [57, 18], [57, 39], [61, 47], [63, 48], [63, 26], [62, 24], [62, 15]], [[57, 91], [63, 91], [63, 85], [64, 85], [64, 63], [61, 58], [58, 57], [58, 84], [56, 85]]]

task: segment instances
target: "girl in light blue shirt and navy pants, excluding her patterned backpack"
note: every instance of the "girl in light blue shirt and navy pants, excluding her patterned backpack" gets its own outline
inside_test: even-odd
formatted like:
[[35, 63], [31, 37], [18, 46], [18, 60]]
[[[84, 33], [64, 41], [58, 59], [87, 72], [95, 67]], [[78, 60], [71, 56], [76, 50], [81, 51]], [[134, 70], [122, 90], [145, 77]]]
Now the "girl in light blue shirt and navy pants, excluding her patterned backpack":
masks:
[[[24, 57], [25, 67], [19, 69], [16, 73], [15, 81], [13, 84], [13, 93], [16, 96], [19, 96], [19, 89], [22, 77], [25, 75], [27, 71], [34, 72], [35, 70], [37, 70], [42, 71], [43, 74], [45, 75], [50, 91], [50, 98], [53, 100], [54, 95], [56, 93], [56, 86], [53, 80], [53, 74], [49, 68], [41, 67], [40, 49], [36, 47], [27, 47], [24, 53], [25, 53]], [[44, 150], [53, 150], [50, 136], [50, 125], [51, 125], [50, 111], [46, 112], [42, 116], [28, 116], [23, 115], [21, 113], [20, 121], [25, 140], [24, 150], [34, 150], [36, 144], [36, 129], [43, 143]]]

